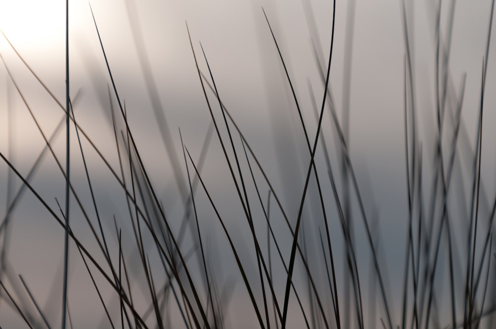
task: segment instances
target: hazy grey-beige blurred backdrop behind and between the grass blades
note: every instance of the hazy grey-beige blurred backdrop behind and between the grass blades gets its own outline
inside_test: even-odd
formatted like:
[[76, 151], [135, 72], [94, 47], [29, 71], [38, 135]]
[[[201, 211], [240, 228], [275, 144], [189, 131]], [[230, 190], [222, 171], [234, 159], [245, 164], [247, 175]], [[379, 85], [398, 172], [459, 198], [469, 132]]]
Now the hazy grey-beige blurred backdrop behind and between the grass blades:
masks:
[[[442, 73], [441, 77], [444, 76], [444, 70], [449, 72], [447, 85], [451, 87], [447, 87], [449, 92], [446, 106], [449, 113], [455, 113], [460, 86], [466, 74], [458, 153], [453, 167], [453, 176], [456, 178], [453, 178], [451, 194], [447, 199], [455, 246], [453, 248], [458, 248], [458, 260], [455, 261], [455, 269], [459, 270], [457, 306], [463, 310], [465, 272], [462, 269], [466, 266], [465, 246], [469, 221], [466, 215], [469, 214], [471, 204], [472, 165], [479, 125], [481, 67], [486, 56], [492, 2], [456, 1], [456, 5], [453, 4], [454, 1], [441, 2], [441, 55], [445, 47], [450, 47], [450, 51], [447, 64], [439, 68], [436, 66], [438, 1], [407, 0], [404, 5], [394, 0], [336, 1], [329, 80], [332, 103], [345, 132], [349, 157], [357, 175], [365, 210], [369, 214], [369, 224], [378, 241], [376, 248], [382, 273], [387, 278], [386, 291], [392, 305], [394, 325], [399, 325], [401, 321], [400, 305], [404, 295], [405, 248], [408, 240], [405, 97], [409, 102], [408, 113], [412, 110], [410, 102], [415, 102], [417, 135], [412, 137], [410, 131], [409, 138], [415, 138], [417, 146], [414, 151], [409, 152], [415, 152], [417, 156], [422, 154], [421, 191], [424, 193], [427, 209], [434, 194], [439, 192], [432, 188], [438, 138], [435, 94], [436, 84], [442, 85], [436, 82], [436, 69]], [[263, 167], [294, 227], [310, 154], [293, 95], [262, 7], [280, 47], [302, 110], [310, 144], [313, 145], [317, 121], [312, 100], [320, 110], [324, 92], [321, 74], [325, 74], [331, 41], [332, 1], [105, 0], [91, 1], [90, 4], [119, 98], [125, 103], [129, 128], [172, 230], [181, 230], [184, 200], [189, 193], [179, 134], [181, 129], [183, 142], [193, 161], [197, 162], [200, 159], [202, 150], [205, 152], [202, 178], [226, 223], [229, 234], [235, 241], [236, 249], [244, 264], [247, 264], [249, 279], [258, 287], [256, 257], [248, 222], [219, 139], [211, 127], [212, 118], [201, 89], [186, 22], [199, 70], [211, 81], [201, 52], [201, 42], [219, 97]], [[70, 95], [77, 123], [121, 177], [111, 107], [116, 110], [118, 129], [123, 129], [124, 134], [125, 125], [100, 47], [90, 4], [87, 1], [69, 1]], [[402, 19], [403, 10], [406, 20]], [[407, 32], [404, 22], [408, 26]], [[46, 143], [28, 111], [29, 107], [47, 138], [54, 134], [51, 145], [64, 168], [65, 128], [63, 124], [60, 125], [65, 117], [64, 111], [33, 76], [19, 55], [64, 106], [65, 1], [0, 0], [0, 29], [6, 37], [0, 38], [0, 54], [5, 64], [1, 65], [0, 69], [0, 152], [24, 176], [36, 163]], [[414, 91], [413, 97], [410, 91], [405, 96], [405, 33], [408, 35], [413, 68], [411, 77], [414, 83], [408, 88], [411, 87], [409, 90]], [[481, 193], [484, 197], [481, 196], [480, 209], [483, 226], [480, 229], [482, 233], [481, 241], [478, 241], [479, 247], [484, 243], [487, 218], [491, 214], [496, 193], [496, 152], [492, 142], [496, 137], [492, 127], [492, 122], [496, 119], [493, 110], [496, 104], [496, 94], [493, 92], [496, 88], [496, 66], [493, 65], [495, 57], [490, 47], [489, 56], [486, 58], [488, 65], [481, 160]], [[442, 61], [443, 57], [440, 58]], [[219, 124], [220, 134], [226, 146], [229, 145], [227, 153], [234, 163], [234, 154], [219, 104], [215, 94], [206, 84], [205, 88]], [[442, 87], [438, 88], [443, 90]], [[329, 103], [329, 99], [326, 102]], [[453, 116], [446, 115], [443, 146], [444, 157], [447, 159], [455, 125]], [[412, 122], [409, 121], [408, 124], [411, 125]], [[267, 243], [265, 217], [249, 175], [240, 136], [232, 124], [230, 128], [250, 193], [249, 200], [252, 204], [255, 231], [260, 236], [260, 248], [267, 250], [270, 243]], [[90, 221], [97, 225], [73, 124], [70, 129], [70, 180]], [[358, 199], [351, 186], [346, 187], [343, 179], [345, 176], [341, 175], [340, 141], [327, 106], [324, 109], [321, 131], [337, 177], [338, 193], [345, 195], [347, 189], [350, 191], [349, 217], [354, 222], [358, 272], [363, 285], [364, 318], [367, 319], [366, 323], [372, 321], [369, 322], [371, 328], [376, 328], [380, 326], [379, 319], [384, 317], [384, 310], [378, 290], [374, 292], [377, 297], [371, 297], [370, 288], [375, 287], [375, 280], [372, 275], [370, 245], [360, 215]], [[120, 132], [117, 134], [123, 148], [125, 144]], [[117, 225], [122, 228], [123, 253], [128, 257], [126, 265], [130, 272], [131, 288], [135, 291], [134, 298], [136, 303], [142, 303], [137, 309], [144, 312], [150, 304], [150, 298], [136, 252], [123, 188], [88, 141], [82, 139], [81, 143], [111, 257], [114, 257], [114, 263], [118, 262], [119, 242], [115, 218]], [[123, 149], [121, 152], [124, 152]], [[122, 155], [125, 157], [124, 153]], [[252, 168], [255, 168], [251, 155], [249, 161]], [[336, 280], [345, 282], [345, 239], [328, 180], [325, 154], [320, 144], [317, 147], [315, 164], [319, 179], [324, 182], [322, 195], [331, 232]], [[194, 169], [191, 163], [188, 163], [188, 166], [193, 177]], [[126, 168], [125, 176], [130, 179], [128, 164], [124, 165], [124, 169]], [[269, 188], [258, 168], [254, 169], [253, 173], [261, 199], [266, 204]], [[238, 177], [238, 173], [236, 176]], [[61, 202], [63, 209], [65, 180], [49, 152], [41, 158], [30, 183], [54, 212], [60, 215], [55, 198]], [[9, 173], [8, 166], [2, 162], [0, 213], [7, 214], [8, 205], [21, 186], [22, 182]], [[212, 273], [218, 282], [225, 284], [220, 287], [225, 289], [227, 301], [225, 325], [227, 328], [253, 328], [257, 322], [246, 288], [225, 233], [201, 185], [198, 185], [195, 202], [202, 239], [208, 246], [206, 249], [209, 251]], [[271, 202], [272, 228], [283, 257], [288, 262], [292, 237], [288, 234], [288, 227], [275, 206], [276, 203], [273, 199]], [[436, 216], [441, 216], [442, 204], [436, 204], [435, 213]], [[15, 209], [5, 218], [8, 218], [8, 224], [3, 226], [0, 234], [4, 262], [0, 279], [14, 299], [24, 305], [26, 313], [32, 315], [34, 323], [38, 321], [41, 324], [41, 318], [19, 280], [18, 274], [21, 274], [44, 310], [48, 322], [53, 327], [58, 327], [62, 310], [64, 230], [27, 190], [18, 200]], [[193, 217], [190, 219], [193, 220]], [[436, 232], [439, 219], [440, 217], [436, 219], [434, 225]], [[310, 179], [303, 220], [307, 226], [301, 233], [301, 239], [305, 237], [308, 242], [310, 271], [315, 275], [317, 286], [328, 289], [318, 233], [319, 228], [323, 229], [322, 214], [314, 178]], [[70, 221], [74, 234], [95, 256], [97, 262], [104, 264], [104, 255], [73, 197]], [[181, 245], [184, 253], [197, 248], [196, 228], [188, 227], [192, 228], [188, 228], [190, 231], [186, 233]], [[446, 249], [445, 240], [443, 237], [442, 248]], [[164, 282], [167, 277], [151, 239], [145, 241], [145, 249], [150, 253], [151, 272], [154, 273], [156, 285], [161, 286], [162, 283], [158, 282]], [[440, 290], [436, 295], [436, 316], [441, 319], [441, 327], [450, 324], [451, 317], [451, 308], [447, 303], [450, 296], [446, 279], [448, 254], [445, 249], [441, 251], [440, 269], [436, 274]], [[274, 249], [272, 252], [275, 254]], [[202, 268], [195, 257], [197, 256], [192, 256], [188, 264], [194, 277], [201, 282]], [[280, 262], [274, 264], [274, 289], [277, 294], [284, 296], [286, 273]], [[119, 319], [119, 295], [107, 286], [108, 282], [94, 267], [90, 268], [96, 273], [95, 279], [101, 286], [103, 300], [108, 304], [109, 312]], [[105, 271], [110, 273], [109, 269]], [[494, 272], [491, 275], [494, 277]], [[294, 280], [302, 287], [307, 284], [306, 272], [298, 259]], [[98, 295], [72, 242], [68, 282], [68, 304], [74, 328], [109, 328]], [[350, 294], [345, 285], [338, 284], [338, 294], [343, 298]], [[305, 289], [302, 288], [303, 291]], [[255, 288], [255, 295], [261, 303], [259, 290]], [[204, 292], [202, 293], [204, 297]], [[309, 305], [311, 294], [310, 297], [308, 293], [303, 293], [302, 296], [304, 305]], [[331, 317], [330, 293], [322, 293], [321, 298]], [[411, 293], [409, 298], [412, 298]], [[488, 297], [486, 301], [488, 308], [493, 306], [493, 300], [489, 299]], [[282, 304], [282, 299], [280, 303]], [[302, 328], [305, 323], [294, 298], [290, 299], [289, 308], [289, 319], [292, 319], [291, 322], [288, 321], [291, 323], [290, 327]], [[350, 308], [354, 310], [354, 305]], [[184, 323], [174, 310], [174, 306], [171, 306], [167, 314], [171, 325], [176, 328]], [[358, 328], [356, 319], [353, 318], [354, 312], [351, 312], [349, 326]], [[150, 317], [149, 321], [153, 323], [153, 317]], [[3, 292], [0, 300], [0, 326], [25, 326]], [[488, 327], [490, 326], [488, 323]]]

